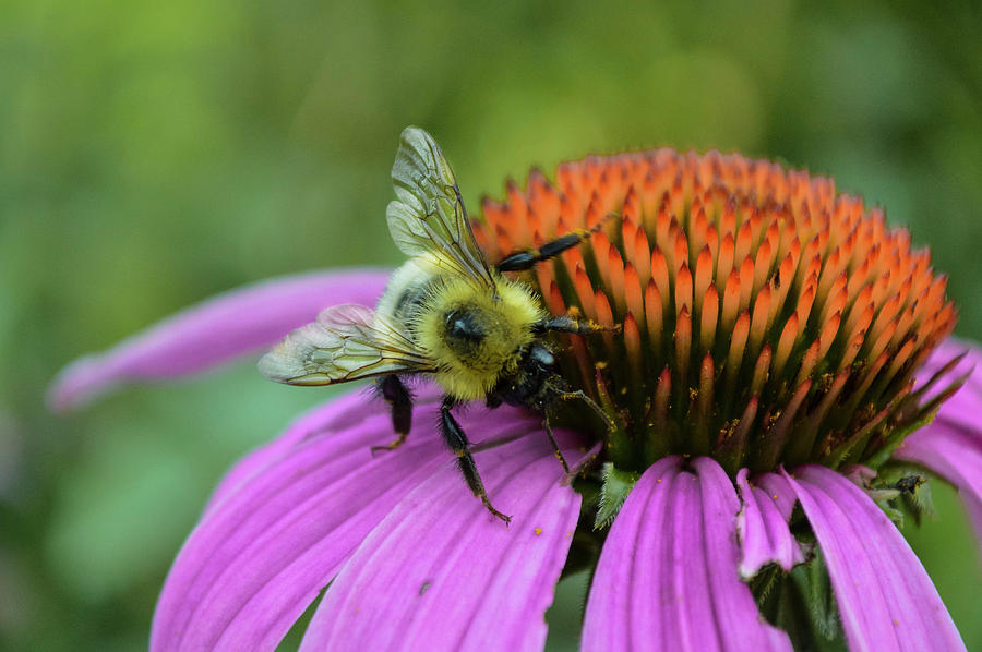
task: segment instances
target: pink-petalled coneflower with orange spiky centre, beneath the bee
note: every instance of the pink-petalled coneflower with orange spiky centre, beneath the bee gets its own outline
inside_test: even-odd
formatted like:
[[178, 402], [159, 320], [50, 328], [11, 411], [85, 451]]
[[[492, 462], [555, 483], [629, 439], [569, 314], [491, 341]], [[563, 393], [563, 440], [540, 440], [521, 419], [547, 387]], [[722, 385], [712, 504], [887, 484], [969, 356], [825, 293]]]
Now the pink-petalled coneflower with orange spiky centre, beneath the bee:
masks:
[[[556, 347], [615, 426], [567, 412], [566, 475], [540, 415], [462, 414], [505, 528], [435, 428], [372, 456], [388, 415], [359, 393], [331, 401], [221, 482], [153, 649], [272, 650], [321, 592], [304, 649], [541, 649], [564, 567], [595, 568], [585, 650], [790, 650], [835, 633], [836, 609], [814, 604], [833, 594], [852, 650], [963, 649], [884, 511], [917, 503], [917, 464], [982, 528], [982, 354], [944, 341], [945, 277], [906, 230], [830, 179], [670, 149], [564, 164], [554, 183], [534, 172], [483, 214], [490, 262], [594, 229], [526, 280], [553, 314], [622, 325]], [[324, 273], [214, 299], [74, 363], [52, 405], [250, 352], [320, 309], [372, 304], [385, 280]], [[422, 387], [416, 423], [438, 409]]]

